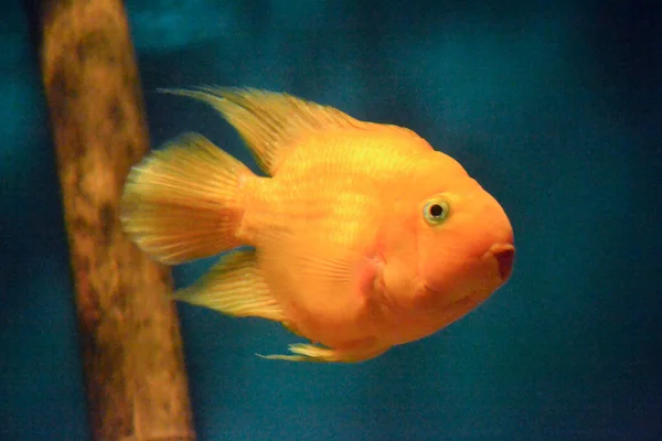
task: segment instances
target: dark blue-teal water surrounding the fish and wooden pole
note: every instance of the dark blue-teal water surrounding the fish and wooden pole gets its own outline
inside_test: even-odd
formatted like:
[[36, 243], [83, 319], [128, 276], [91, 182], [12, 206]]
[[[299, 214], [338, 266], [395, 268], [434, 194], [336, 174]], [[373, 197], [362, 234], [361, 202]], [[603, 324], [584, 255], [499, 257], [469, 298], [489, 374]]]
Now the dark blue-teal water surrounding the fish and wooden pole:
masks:
[[[232, 128], [158, 87], [253, 86], [409, 127], [514, 225], [484, 305], [361, 365], [287, 364], [280, 326], [180, 306], [201, 440], [662, 440], [660, 8], [549, 1], [128, 1], [154, 144]], [[622, 4], [621, 4], [622, 3]], [[0, 439], [87, 437], [34, 49], [0, 7]], [[206, 263], [178, 268], [178, 284]]]

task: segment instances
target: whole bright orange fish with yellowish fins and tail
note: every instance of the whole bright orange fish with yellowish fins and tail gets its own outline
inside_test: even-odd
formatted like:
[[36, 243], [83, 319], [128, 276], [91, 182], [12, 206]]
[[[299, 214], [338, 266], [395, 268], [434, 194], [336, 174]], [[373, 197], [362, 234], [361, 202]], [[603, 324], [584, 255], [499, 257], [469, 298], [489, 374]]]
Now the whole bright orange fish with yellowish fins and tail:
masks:
[[373, 358], [458, 320], [510, 277], [501, 205], [413, 131], [286, 94], [170, 93], [218, 110], [268, 178], [182, 136], [130, 172], [124, 227], [170, 265], [229, 250], [175, 299], [311, 342], [267, 358]]

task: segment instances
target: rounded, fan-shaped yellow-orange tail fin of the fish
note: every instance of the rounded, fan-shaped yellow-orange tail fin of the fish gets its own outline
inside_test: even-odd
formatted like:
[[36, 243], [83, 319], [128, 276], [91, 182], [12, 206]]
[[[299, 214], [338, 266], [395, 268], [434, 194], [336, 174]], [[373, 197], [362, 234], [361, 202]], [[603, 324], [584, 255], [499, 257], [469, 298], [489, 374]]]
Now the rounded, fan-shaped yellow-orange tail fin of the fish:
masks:
[[243, 245], [242, 176], [253, 172], [201, 135], [184, 135], [135, 166], [121, 200], [125, 232], [164, 263]]

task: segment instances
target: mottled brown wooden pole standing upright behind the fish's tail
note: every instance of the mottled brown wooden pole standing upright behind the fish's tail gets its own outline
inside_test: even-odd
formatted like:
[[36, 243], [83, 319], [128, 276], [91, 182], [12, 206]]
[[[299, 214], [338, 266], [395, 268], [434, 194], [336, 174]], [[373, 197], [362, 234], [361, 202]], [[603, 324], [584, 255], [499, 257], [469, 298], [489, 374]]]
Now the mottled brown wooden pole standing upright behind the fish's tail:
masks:
[[168, 269], [129, 243], [118, 200], [148, 131], [120, 0], [41, 0], [43, 84], [95, 440], [193, 440]]

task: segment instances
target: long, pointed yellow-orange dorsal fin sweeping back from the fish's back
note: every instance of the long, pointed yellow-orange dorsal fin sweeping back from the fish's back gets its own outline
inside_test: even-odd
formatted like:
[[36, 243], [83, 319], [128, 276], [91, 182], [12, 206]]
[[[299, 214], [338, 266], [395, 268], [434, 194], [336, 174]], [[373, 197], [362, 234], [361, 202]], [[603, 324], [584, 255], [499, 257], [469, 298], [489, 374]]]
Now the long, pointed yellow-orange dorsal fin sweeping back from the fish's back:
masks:
[[196, 98], [218, 110], [237, 129], [259, 166], [269, 175], [276, 173], [300, 137], [324, 129], [366, 125], [333, 107], [267, 90], [200, 87], [162, 92]]

